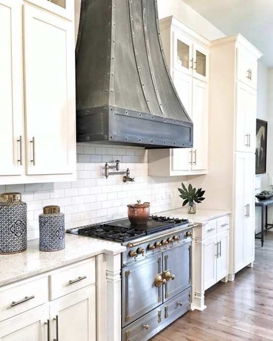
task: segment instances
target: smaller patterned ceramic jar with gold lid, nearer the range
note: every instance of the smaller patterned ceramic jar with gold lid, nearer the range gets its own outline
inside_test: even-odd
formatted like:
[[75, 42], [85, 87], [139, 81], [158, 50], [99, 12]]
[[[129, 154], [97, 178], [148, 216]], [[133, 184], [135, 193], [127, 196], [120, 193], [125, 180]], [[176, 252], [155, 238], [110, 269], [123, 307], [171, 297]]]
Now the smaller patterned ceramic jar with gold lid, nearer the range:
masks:
[[39, 215], [39, 250], [58, 251], [65, 248], [64, 214], [60, 207], [49, 205]]

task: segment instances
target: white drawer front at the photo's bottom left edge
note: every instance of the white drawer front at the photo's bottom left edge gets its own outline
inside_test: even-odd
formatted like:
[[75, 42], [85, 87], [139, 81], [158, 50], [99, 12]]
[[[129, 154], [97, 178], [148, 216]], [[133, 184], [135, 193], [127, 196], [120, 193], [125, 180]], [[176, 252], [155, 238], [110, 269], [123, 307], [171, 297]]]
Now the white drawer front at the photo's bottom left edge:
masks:
[[35, 276], [0, 288], [0, 321], [48, 301], [47, 276]]

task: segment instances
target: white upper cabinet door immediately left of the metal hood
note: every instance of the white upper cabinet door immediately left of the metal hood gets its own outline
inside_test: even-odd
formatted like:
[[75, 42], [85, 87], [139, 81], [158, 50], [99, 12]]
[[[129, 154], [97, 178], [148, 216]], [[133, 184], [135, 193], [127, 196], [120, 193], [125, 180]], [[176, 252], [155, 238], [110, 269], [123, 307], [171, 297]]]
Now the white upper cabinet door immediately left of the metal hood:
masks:
[[74, 78], [69, 68], [74, 46], [69, 24], [24, 5], [27, 174], [73, 171]]

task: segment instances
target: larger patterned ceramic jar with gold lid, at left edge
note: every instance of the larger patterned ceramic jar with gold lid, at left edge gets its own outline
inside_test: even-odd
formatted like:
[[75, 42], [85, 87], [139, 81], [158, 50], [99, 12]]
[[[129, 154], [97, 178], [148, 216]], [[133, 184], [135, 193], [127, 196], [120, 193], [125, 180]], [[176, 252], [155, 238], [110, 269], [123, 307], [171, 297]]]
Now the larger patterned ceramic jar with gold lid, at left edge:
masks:
[[0, 195], [0, 254], [27, 249], [27, 204], [21, 193]]

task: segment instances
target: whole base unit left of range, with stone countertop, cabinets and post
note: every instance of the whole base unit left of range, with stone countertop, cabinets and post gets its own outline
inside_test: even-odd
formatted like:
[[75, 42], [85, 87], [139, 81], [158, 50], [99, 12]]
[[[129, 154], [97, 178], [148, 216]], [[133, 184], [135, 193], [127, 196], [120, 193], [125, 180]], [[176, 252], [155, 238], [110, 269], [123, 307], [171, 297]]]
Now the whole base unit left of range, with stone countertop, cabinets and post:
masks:
[[36, 239], [24, 252], [0, 255], [0, 339], [120, 340], [125, 247], [67, 233], [65, 238], [60, 251], [41, 252]]

